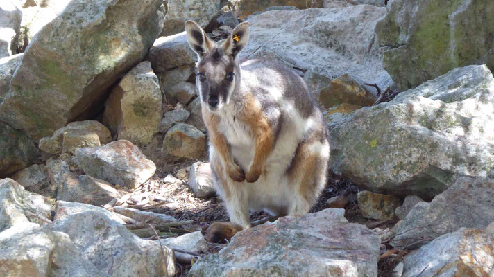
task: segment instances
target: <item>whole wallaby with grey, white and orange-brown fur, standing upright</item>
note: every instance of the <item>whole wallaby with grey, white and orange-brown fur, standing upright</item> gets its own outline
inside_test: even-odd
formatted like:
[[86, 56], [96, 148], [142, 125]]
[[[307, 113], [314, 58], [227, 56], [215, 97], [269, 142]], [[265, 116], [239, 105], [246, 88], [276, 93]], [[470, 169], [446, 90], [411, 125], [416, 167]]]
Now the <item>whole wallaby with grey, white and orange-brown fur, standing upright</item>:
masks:
[[321, 110], [291, 69], [265, 60], [239, 64], [248, 22], [216, 46], [194, 21], [185, 23], [197, 53], [196, 85], [210, 139], [214, 188], [231, 224], [215, 222], [210, 241], [250, 227], [249, 210], [303, 215], [325, 187], [330, 144]]

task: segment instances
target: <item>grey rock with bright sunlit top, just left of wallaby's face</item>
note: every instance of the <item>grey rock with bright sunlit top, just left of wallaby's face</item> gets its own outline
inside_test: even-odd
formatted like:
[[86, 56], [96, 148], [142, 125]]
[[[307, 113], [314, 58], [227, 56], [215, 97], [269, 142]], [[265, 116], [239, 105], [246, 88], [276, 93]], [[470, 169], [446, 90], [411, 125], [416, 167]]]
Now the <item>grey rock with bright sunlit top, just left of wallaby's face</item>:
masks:
[[148, 61], [153, 71], [160, 73], [185, 64], [194, 64], [197, 55], [187, 43], [185, 32], [156, 39], [149, 49]]

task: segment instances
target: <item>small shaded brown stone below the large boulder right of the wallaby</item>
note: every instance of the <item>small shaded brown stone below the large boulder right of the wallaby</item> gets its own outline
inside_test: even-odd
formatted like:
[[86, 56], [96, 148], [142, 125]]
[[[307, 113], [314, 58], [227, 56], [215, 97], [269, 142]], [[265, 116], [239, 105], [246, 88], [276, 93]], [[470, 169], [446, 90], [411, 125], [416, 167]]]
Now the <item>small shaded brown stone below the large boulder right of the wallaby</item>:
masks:
[[357, 195], [357, 202], [362, 215], [373, 220], [393, 220], [395, 209], [400, 206], [398, 197], [370, 191], [361, 191]]

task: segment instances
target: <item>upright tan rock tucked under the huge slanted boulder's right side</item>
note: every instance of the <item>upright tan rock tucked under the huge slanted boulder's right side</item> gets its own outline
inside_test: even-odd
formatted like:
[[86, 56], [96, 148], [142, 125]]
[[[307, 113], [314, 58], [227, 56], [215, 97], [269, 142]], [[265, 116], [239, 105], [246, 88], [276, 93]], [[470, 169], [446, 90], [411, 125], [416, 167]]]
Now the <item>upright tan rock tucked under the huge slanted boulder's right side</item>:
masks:
[[106, 100], [103, 123], [118, 139], [144, 145], [157, 134], [162, 118], [160, 84], [151, 63], [141, 62], [123, 77]]

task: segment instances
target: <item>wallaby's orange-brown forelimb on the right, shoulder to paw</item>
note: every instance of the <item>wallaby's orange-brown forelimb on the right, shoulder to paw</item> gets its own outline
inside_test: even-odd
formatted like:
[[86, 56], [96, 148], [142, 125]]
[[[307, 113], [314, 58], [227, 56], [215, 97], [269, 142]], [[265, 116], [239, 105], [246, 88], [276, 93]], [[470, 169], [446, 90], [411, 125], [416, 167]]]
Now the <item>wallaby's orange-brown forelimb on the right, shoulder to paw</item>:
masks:
[[255, 140], [255, 152], [250, 168], [246, 173], [246, 180], [253, 183], [259, 179], [264, 162], [273, 150], [274, 136], [269, 126], [268, 118], [262, 112], [261, 105], [250, 93], [245, 95], [244, 109], [239, 120], [250, 126]]

